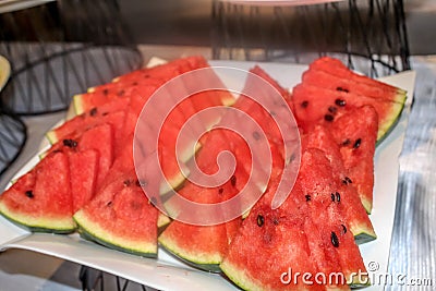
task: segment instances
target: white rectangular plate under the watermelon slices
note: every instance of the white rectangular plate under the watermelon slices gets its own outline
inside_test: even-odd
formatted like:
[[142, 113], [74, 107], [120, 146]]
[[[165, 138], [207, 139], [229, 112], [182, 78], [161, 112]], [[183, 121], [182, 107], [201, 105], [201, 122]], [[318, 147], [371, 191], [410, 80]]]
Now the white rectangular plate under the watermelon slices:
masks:
[[[213, 61], [211, 65], [226, 65], [249, 70], [255, 63], [235, 61]], [[262, 63], [261, 66], [282, 86], [292, 88], [301, 81], [306, 65]], [[375, 274], [385, 274], [389, 260], [390, 239], [397, 197], [397, 184], [400, 155], [410, 105], [413, 98], [415, 73], [403, 72], [383, 81], [408, 90], [408, 102], [399, 123], [389, 136], [377, 147], [375, 155], [374, 209], [371, 220], [378, 235], [376, 241], [361, 246], [365, 264], [375, 262]], [[244, 80], [241, 80], [241, 84]], [[38, 157], [34, 157], [16, 174], [28, 171]], [[158, 258], [143, 258], [112, 251], [98, 244], [82, 240], [77, 234], [51, 235], [32, 234], [0, 217], [0, 250], [25, 248], [77, 264], [100, 269], [120, 277], [160, 290], [237, 290], [223, 277], [193, 269], [174, 259], [159, 248]], [[379, 290], [382, 286], [372, 286], [365, 290]]]

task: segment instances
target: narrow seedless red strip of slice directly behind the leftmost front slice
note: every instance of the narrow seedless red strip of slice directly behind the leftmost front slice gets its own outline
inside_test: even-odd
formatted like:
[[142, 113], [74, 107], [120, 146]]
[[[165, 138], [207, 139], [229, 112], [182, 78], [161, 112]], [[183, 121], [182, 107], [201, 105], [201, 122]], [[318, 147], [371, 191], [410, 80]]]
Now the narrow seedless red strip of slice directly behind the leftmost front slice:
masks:
[[82, 208], [95, 194], [99, 153], [94, 149], [69, 155], [73, 213]]

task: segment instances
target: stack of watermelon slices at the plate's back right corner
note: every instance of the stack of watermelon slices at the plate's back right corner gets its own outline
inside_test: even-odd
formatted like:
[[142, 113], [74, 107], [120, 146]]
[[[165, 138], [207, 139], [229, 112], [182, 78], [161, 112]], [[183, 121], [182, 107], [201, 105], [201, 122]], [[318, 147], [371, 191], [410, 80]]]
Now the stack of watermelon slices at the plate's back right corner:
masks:
[[[323, 124], [341, 144], [344, 167], [368, 214], [373, 204], [374, 144], [363, 136], [376, 126], [376, 141], [383, 141], [400, 118], [405, 98], [404, 90], [359, 75], [328, 57], [314, 61], [292, 92], [290, 106], [303, 132]], [[367, 131], [355, 126], [353, 120], [336, 122], [350, 109], [363, 106], [373, 107], [377, 116], [376, 124], [367, 125]], [[361, 151], [367, 154], [366, 158]]]

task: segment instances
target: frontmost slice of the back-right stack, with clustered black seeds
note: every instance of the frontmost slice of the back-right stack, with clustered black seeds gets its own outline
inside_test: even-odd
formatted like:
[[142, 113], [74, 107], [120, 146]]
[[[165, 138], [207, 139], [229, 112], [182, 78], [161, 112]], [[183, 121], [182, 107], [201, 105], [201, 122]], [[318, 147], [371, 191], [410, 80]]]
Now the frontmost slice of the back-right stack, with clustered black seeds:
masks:
[[377, 100], [363, 95], [296, 85], [292, 93], [295, 119], [305, 131], [319, 122], [329, 124], [349, 108], [371, 105], [378, 114], [377, 140], [380, 140], [398, 120], [403, 105]]

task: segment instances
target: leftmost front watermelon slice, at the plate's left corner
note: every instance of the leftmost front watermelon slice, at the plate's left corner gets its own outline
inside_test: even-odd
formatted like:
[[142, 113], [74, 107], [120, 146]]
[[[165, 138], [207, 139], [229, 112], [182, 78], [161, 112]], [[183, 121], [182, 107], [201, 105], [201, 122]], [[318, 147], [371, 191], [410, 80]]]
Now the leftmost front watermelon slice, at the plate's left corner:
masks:
[[61, 151], [49, 154], [20, 178], [0, 196], [0, 213], [31, 231], [73, 232], [68, 156]]

